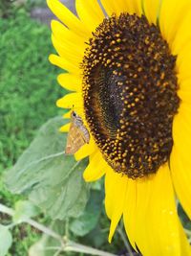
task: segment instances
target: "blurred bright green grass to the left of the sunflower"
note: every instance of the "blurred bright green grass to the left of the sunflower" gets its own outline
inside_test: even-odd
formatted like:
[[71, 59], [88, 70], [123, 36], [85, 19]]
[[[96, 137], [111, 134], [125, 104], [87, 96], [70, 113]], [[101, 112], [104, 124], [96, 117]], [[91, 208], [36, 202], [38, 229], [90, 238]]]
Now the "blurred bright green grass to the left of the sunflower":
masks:
[[10, 167], [29, 145], [35, 130], [57, 114], [61, 95], [50, 31], [24, 11], [0, 20], [0, 170]]

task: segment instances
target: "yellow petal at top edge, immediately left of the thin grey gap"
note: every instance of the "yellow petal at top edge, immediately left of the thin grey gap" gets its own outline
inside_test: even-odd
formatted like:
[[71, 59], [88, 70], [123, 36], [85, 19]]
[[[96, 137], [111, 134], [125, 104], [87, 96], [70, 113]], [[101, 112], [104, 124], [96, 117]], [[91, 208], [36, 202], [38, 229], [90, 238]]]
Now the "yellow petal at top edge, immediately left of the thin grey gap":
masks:
[[79, 19], [88, 27], [90, 32], [95, 31], [104, 19], [104, 14], [97, 0], [76, 0], [75, 7]]

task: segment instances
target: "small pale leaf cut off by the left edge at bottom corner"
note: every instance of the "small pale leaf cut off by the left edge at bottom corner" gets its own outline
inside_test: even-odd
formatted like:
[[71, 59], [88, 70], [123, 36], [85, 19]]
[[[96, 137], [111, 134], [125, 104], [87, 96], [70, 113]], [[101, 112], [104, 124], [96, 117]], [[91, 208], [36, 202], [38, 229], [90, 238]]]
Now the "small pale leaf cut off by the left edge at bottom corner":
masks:
[[8, 253], [12, 244], [11, 232], [7, 226], [0, 224], [0, 256], [5, 256]]

